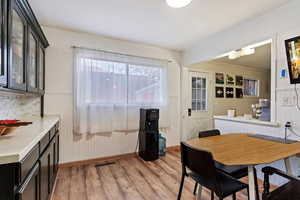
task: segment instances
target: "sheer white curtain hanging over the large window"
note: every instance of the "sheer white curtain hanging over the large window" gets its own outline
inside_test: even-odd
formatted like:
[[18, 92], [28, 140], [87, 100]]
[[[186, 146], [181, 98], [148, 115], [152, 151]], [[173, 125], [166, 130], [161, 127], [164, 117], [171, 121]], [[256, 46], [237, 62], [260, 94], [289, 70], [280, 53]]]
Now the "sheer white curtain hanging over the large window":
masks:
[[140, 108], [169, 126], [167, 61], [74, 48], [74, 133], [130, 132]]

